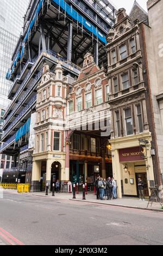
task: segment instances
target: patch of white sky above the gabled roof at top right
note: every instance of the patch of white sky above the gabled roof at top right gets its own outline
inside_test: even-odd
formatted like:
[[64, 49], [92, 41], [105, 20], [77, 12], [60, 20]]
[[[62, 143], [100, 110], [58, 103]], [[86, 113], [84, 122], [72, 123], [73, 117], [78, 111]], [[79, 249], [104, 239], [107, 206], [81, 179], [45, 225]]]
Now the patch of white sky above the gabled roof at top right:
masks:
[[[127, 14], [130, 13], [131, 8], [133, 7], [134, 0], [111, 0], [112, 4], [115, 4], [115, 7], [117, 9], [119, 8], [125, 8], [127, 11]], [[147, 11], [147, 0], [137, 0], [137, 3], [140, 4], [140, 6]]]

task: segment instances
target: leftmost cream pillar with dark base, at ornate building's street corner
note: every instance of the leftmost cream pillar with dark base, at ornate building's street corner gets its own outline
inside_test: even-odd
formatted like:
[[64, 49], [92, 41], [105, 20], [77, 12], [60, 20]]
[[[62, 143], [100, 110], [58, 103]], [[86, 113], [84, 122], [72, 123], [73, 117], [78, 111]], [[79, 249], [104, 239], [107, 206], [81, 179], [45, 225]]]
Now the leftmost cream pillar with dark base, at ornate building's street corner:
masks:
[[40, 192], [41, 161], [33, 161], [30, 192]]

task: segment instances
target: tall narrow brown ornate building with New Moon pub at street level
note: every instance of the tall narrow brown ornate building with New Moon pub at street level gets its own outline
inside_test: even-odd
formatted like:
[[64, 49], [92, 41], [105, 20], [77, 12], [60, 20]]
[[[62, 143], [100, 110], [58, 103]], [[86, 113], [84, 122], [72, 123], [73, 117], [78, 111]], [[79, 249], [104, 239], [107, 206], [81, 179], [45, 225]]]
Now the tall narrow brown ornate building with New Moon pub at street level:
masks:
[[107, 37], [112, 168], [120, 197], [137, 195], [139, 177], [145, 182], [146, 196], [149, 187], [162, 182], [161, 107], [156, 102], [161, 102], [161, 96], [155, 95], [159, 93], [159, 59], [153, 44], [158, 41], [153, 15], [161, 7], [161, 1], [148, 1], [149, 23], [148, 14], [136, 1], [130, 16], [123, 8], [118, 10]]

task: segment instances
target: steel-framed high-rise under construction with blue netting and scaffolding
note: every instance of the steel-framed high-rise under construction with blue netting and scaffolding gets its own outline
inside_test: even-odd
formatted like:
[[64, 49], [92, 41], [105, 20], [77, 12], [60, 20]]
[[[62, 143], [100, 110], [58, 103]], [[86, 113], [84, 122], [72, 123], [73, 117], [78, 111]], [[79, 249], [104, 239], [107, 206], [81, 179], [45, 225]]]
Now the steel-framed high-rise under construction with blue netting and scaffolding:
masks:
[[115, 19], [116, 10], [108, 0], [30, 1], [24, 16], [23, 35], [17, 42], [7, 74], [7, 79], [14, 83], [8, 96], [11, 103], [4, 117], [4, 143], [0, 151], [15, 157], [15, 167], [4, 171], [3, 181], [7, 181], [5, 172], [8, 177], [12, 173], [11, 177], [20, 179], [19, 173], [32, 171], [28, 145], [30, 122], [43, 64], [53, 72], [59, 63], [70, 83], [71, 77], [78, 77], [87, 52], [97, 65], [105, 65], [105, 36]]

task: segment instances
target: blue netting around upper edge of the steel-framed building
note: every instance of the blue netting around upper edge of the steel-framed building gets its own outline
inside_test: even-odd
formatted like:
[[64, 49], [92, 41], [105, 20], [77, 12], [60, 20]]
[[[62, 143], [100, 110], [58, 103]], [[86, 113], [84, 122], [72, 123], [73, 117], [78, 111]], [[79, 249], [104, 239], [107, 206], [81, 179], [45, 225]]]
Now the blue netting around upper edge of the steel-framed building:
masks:
[[[102, 42], [104, 42], [104, 44], [106, 44], [106, 39], [105, 36], [98, 31], [98, 29], [96, 27], [94, 27], [90, 22], [88, 22], [82, 15], [80, 15], [76, 10], [74, 10], [69, 4], [67, 4], [64, 0], [52, 0], [54, 3], [58, 4], [59, 7], [61, 7], [69, 16], [71, 16], [74, 20], [76, 20], [79, 24], [83, 25], [83, 27], [85, 27], [88, 31], [90, 31], [92, 33], [92, 35], [95, 35], [99, 40], [101, 40]], [[35, 15], [33, 20], [30, 22], [29, 28], [28, 28], [28, 32], [23, 40], [23, 45], [22, 45], [22, 50], [21, 53], [17, 54], [17, 57], [12, 65], [12, 69], [11, 71], [9, 70], [7, 72], [6, 78], [10, 79], [12, 72], [17, 64], [17, 61], [19, 59], [23, 58], [24, 55], [24, 48], [25, 48], [25, 44], [27, 42], [27, 40], [29, 39], [30, 36], [30, 32], [32, 30], [32, 28], [34, 27], [36, 20], [37, 20], [37, 16], [40, 12], [40, 9], [42, 7], [43, 4], [43, 0], [40, 0], [37, 9], [35, 11]]]

